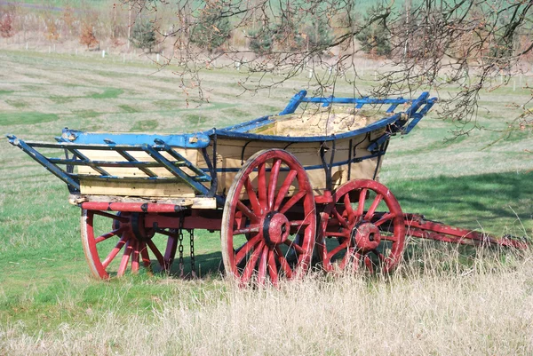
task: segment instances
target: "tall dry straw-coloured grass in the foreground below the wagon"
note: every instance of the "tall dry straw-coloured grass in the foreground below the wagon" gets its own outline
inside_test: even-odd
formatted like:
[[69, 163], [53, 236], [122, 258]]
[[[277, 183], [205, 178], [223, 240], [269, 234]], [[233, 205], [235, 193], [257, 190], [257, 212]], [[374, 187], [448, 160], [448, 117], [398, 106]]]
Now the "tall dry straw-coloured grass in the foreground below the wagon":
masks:
[[388, 277], [311, 273], [281, 289], [245, 290], [164, 280], [176, 294], [151, 312], [110, 307], [92, 325], [52, 334], [4, 325], [0, 354], [532, 354], [530, 252], [482, 253], [465, 264], [458, 249], [421, 250]]

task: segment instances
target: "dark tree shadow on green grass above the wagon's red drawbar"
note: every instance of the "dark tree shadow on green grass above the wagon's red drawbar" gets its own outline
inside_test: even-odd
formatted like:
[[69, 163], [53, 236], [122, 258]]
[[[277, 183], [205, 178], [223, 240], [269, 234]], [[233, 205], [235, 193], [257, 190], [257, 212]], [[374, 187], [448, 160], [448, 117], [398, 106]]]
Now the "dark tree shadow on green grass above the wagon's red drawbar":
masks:
[[532, 233], [533, 172], [412, 179], [387, 186], [403, 212], [489, 233]]

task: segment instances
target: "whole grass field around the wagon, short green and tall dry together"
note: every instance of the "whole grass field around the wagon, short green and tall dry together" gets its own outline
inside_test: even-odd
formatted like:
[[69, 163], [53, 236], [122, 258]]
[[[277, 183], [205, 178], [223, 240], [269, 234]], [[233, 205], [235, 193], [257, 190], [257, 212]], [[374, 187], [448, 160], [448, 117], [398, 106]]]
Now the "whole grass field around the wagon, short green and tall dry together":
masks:
[[[0, 51], [0, 132], [52, 141], [63, 127], [198, 131], [279, 112], [307, 84], [302, 76], [268, 95], [240, 95], [240, 75], [210, 72], [210, 102], [198, 107], [171, 68]], [[470, 137], [449, 139], [453, 124], [429, 115], [394, 138], [381, 181], [404, 211], [531, 238], [533, 132], [488, 146], [516, 115], [509, 104], [529, 96], [512, 86], [485, 93], [479, 120], [489, 130]], [[533, 352], [529, 251], [411, 241], [390, 277], [311, 273], [280, 290], [240, 290], [219, 275], [219, 234], [198, 232], [198, 281], [95, 281], [65, 186], [7, 141], [0, 163], [0, 354]]]

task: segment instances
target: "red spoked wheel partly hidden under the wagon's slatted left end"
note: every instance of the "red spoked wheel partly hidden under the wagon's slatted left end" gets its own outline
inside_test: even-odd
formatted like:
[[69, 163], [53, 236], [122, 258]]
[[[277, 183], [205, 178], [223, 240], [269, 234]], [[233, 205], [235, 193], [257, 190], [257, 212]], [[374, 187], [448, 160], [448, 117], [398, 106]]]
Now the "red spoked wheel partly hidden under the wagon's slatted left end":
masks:
[[[82, 210], [82, 243], [91, 273], [101, 279], [123, 276], [127, 271], [138, 273], [144, 266], [152, 271], [151, 257], [155, 257], [162, 271], [169, 271], [178, 246], [177, 233], [144, 226], [143, 214], [112, 213]], [[158, 245], [156, 235], [166, 239], [166, 248]], [[158, 242], [158, 243], [156, 243]]]

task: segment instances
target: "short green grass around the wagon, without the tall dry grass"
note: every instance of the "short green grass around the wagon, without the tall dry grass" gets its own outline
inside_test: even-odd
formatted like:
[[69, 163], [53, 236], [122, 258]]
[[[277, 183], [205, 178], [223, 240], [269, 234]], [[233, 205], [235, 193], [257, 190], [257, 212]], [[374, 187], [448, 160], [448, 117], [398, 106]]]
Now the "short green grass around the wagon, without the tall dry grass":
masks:
[[[54, 71], [57, 67], [64, 73]], [[306, 88], [307, 80], [305, 75], [296, 78], [288, 83], [290, 89], [273, 91], [271, 97], [236, 97], [238, 91], [227, 83], [244, 74], [213, 71], [204, 81], [211, 88], [211, 103], [195, 107], [197, 101], [175, 90], [178, 79], [171, 73], [150, 75], [154, 67], [142, 64], [135, 65], [134, 73], [130, 68], [95, 59], [1, 52], [0, 72], [5, 75], [0, 91], [0, 104], [4, 104], [0, 106], [0, 133], [53, 141], [65, 126], [123, 132], [200, 131], [279, 112], [294, 93], [292, 89]], [[48, 84], [28, 84], [10, 77], [12, 70], [24, 75], [30, 69], [33, 72], [25, 75], [26, 79], [38, 76]], [[117, 75], [109, 79], [109, 73]], [[115, 82], [117, 77], [121, 80]], [[489, 129], [505, 129], [505, 121], [514, 117], [498, 101], [500, 94], [484, 94], [490, 115], [480, 117], [480, 123]], [[515, 94], [528, 95], [528, 91]], [[13, 108], [10, 102], [31, 104], [32, 111]], [[430, 115], [410, 135], [393, 139], [380, 178], [398, 198], [402, 210], [496, 235], [533, 236], [533, 160], [524, 152], [531, 148], [532, 131], [513, 132], [488, 146], [500, 132], [474, 131], [472, 137], [447, 140], [453, 136], [452, 129], [452, 124]], [[205, 298], [210, 298], [209, 303], [218, 299], [229, 303], [232, 298], [226, 293], [227, 285], [218, 290], [219, 233], [196, 232], [196, 262], [203, 275], [200, 281], [179, 279], [177, 261], [168, 277], [140, 273], [121, 280], [95, 281], [80, 243], [79, 215], [79, 209], [68, 204], [67, 189], [57, 178], [18, 148], [0, 142], [1, 326], [18, 330], [17, 335], [38, 336], [43, 332], [60, 337], [58, 330], [64, 325], [98, 327], [111, 314], [126, 325], [135, 318], [156, 318], [169, 301], [201, 310], [207, 303]], [[190, 268], [187, 242], [186, 234], [186, 273]], [[410, 245], [406, 256], [411, 262], [421, 258], [423, 246]], [[451, 254], [449, 249], [455, 249], [439, 243], [429, 246], [441, 251], [429, 261], [434, 265]], [[457, 259], [467, 273], [477, 263], [473, 258], [476, 252], [459, 252]], [[505, 263], [514, 258], [505, 251], [499, 253], [492, 256]], [[444, 270], [452, 271], [453, 266]], [[431, 264], [425, 268], [430, 269]], [[382, 286], [376, 281], [366, 282], [370, 291], [372, 286]], [[261, 295], [259, 291], [251, 293]], [[4, 342], [2, 331], [0, 344]]]

